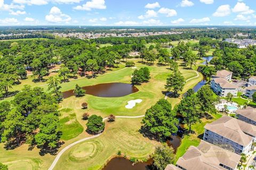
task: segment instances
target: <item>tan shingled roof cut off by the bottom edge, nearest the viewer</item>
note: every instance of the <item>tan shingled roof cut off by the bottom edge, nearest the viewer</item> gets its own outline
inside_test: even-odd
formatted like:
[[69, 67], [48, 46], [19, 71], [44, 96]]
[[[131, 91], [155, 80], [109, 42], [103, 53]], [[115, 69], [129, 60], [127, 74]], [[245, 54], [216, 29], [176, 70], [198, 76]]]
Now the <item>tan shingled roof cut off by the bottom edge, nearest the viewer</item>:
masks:
[[201, 140], [198, 147], [190, 146], [187, 152], [179, 158], [177, 165], [187, 170], [194, 169], [226, 169], [226, 165], [235, 169], [241, 156], [234, 152], [212, 145]]

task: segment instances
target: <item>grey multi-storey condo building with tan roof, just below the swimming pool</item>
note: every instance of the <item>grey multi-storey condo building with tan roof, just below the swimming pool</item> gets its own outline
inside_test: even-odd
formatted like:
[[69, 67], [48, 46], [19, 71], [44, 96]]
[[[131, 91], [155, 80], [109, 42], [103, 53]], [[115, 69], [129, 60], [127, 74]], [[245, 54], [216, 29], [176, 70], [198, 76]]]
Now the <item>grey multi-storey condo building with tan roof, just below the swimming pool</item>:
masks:
[[256, 126], [230, 116], [204, 126], [204, 140], [236, 154], [248, 154], [256, 137]]

